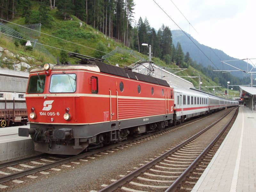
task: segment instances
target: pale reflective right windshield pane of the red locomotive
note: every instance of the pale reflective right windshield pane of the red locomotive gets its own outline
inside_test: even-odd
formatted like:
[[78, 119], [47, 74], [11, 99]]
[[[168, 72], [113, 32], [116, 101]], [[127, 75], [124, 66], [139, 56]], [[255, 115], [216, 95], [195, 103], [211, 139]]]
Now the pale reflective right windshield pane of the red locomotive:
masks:
[[51, 93], [73, 93], [76, 91], [76, 74], [55, 74], [51, 77]]

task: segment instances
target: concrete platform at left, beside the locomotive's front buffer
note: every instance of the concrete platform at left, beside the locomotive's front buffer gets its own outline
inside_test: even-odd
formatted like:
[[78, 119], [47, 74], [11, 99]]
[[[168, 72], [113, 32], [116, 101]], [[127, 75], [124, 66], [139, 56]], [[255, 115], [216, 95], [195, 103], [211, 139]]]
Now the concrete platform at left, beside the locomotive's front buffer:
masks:
[[29, 125], [0, 128], [0, 161], [35, 153], [32, 139], [18, 136], [19, 127], [29, 128]]

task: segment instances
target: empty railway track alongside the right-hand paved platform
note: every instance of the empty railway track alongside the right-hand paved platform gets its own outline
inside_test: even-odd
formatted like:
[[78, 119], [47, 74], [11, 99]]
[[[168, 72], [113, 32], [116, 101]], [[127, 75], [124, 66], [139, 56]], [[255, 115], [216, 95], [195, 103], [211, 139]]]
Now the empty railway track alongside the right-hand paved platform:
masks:
[[[196, 183], [195, 180], [199, 179], [206, 168], [205, 164], [210, 162], [209, 157], [214, 155], [212, 150], [217, 151], [216, 146], [213, 145], [215, 143], [220, 145], [218, 139], [223, 137], [222, 134], [235, 116], [236, 110], [229, 111], [201, 132], [136, 170], [121, 175], [121, 179], [112, 180], [113, 183], [100, 189], [99, 192], [190, 191], [191, 186]], [[199, 164], [201, 160], [203, 164]], [[195, 168], [197, 164], [199, 165]], [[188, 178], [193, 181], [184, 181], [193, 169], [195, 169], [193, 174], [196, 176]]]

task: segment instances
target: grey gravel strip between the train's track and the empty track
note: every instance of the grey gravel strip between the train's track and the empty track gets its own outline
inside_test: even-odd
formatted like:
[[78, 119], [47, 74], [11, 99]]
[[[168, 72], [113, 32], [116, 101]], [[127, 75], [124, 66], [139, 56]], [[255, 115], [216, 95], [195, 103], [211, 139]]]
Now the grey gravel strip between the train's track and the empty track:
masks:
[[[181, 140], [187, 139], [196, 132], [212, 124], [226, 113], [222, 110], [204, 120], [174, 130], [170, 133], [163, 134], [148, 141], [129, 146], [128, 148], [119, 149], [108, 155], [95, 156], [95, 159], [88, 159], [88, 162], [80, 164], [71, 164], [70, 168], [58, 166], [61, 171], [52, 171], [48, 175], [38, 175], [36, 179], [26, 178], [21, 184], [15, 184], [9, 181], [8, 188], [2, 191], [35, 191], [35, 192], [52, 192], [52, 191], [91, 191], [99, 190], [102, 184], [110, 184], [111, 179], [119, 179], [120, 174], [127, 174], [132, 171], [133, 167], [139, 167], [145, 164], [150, 158], [155, 158], [165, 149], [177, 145]], [[78, 161], [77, 161], [78, 162]], [[49, 172], [49, 170], [46, 170]], [[19, 180], [25, 180], [20, 178]]]

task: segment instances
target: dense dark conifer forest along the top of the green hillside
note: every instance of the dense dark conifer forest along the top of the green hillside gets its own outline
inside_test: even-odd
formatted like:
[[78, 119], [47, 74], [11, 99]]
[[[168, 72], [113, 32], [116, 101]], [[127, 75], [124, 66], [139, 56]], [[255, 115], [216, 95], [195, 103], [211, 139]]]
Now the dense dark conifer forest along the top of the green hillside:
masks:
[[[32, 9], [35, 2], [36, 9], [35, 6]], [[247, 77], [239, 79], [228, 73], [213, 73], [211, 66], [198, 65], [190, 58], [188, 51], [184, 54], [179, 41], [173, 44], [168, 26], [163, 24], [156, 30], [150, 26], [147, 18], [143, 20], [140, 17], [135, 21], [133, 7], [133, 0], [0, 0], [0, 22], [23, 17], [26, 24], [41, 23], [51, 28], [54, 18], [49, 11], [57, 10], [59, 19], [71, 20], [71, 15], [75, 15], [104, 35], [142, 54], [148, 55], [148, 48], [141, 44], [150, 44], [153, 57], [164, 60], [167, 65], [175, 63], [181, 68], [192, 66], [212, 78], [216, 84], [226, 86], [227, 81], [248, 84]]]

